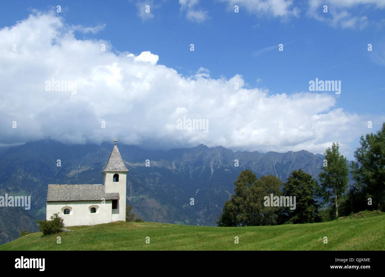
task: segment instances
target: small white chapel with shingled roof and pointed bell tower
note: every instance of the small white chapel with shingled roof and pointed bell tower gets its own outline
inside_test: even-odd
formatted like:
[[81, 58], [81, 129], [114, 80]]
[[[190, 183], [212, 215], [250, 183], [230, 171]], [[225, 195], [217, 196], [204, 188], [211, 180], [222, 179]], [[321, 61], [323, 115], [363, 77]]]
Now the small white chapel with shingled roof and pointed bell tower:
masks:
[[102, 171], [103, 184], [48, 185], [47, 220], [54, 213], [63, 218], [64, 226], [95, 225], [126, 220], [126, 175], [115, 145]]

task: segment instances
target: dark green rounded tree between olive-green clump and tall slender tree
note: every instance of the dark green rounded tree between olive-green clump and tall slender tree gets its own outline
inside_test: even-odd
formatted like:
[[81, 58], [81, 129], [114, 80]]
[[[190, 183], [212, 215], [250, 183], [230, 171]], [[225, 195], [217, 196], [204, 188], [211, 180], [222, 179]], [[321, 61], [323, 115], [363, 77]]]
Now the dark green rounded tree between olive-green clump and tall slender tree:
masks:
[[320, 207], [315, 197], [320, 196], [321, 188], [313, 177], [301, 170], [293, 170], [283, 184], [284, 196], [296, 196], [295, 210], [284, 208], [288, 223], [313, 223]]

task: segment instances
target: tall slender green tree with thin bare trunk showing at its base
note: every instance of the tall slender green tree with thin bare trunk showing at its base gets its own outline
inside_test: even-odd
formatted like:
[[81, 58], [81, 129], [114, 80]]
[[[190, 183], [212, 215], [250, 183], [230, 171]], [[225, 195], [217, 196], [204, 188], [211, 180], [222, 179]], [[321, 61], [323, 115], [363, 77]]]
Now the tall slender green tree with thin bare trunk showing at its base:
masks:
[[324, 159], [327, 164], [322, 167], [323, 171], [318, 175], [324, 201], [334, 205], [336, 218], [338, 218], [338, 207], [343, 202], [343, 195], [349, 181], [347, 159], [340, 155], [339, 148], [338, 143], [333, 143], [331, 148], [326, 149]]

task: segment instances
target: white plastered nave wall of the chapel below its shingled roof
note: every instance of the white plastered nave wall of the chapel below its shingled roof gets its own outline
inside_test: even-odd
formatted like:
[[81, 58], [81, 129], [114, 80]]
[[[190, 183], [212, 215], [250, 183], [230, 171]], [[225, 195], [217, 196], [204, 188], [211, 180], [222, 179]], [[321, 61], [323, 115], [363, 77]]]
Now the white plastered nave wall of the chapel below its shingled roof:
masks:
[[[90, 209], [96, 208], [96, 213], [91, 213]], [[65, 215], [64, 209], [69, 208], [70, 214]], [[54, 213], [59, 213], [63, 218], [64, 226], [95, 225], [117, 221], [112, 218], [112, 200], [102, 201], [49, 201], [47, 202], [47, 220]], [[125, 216], [126, 216], [126, 212]], [[124, 218], [126, 220], [126, 218]]]

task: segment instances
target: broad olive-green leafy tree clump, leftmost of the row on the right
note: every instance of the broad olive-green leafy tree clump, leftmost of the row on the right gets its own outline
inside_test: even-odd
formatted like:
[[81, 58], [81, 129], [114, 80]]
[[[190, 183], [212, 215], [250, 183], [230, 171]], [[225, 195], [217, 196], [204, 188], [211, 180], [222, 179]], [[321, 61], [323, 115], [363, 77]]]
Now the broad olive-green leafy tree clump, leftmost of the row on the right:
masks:
[[273, 176], [262, 176], [258, 180], [251, 170], [242, 171], [234, 182], [235, 194], [224, 202], [218, 226], [275, 225], [279, 207], [265, 207], [264, 196], [280, 196], [282, 181]]

